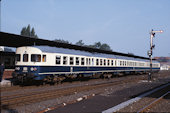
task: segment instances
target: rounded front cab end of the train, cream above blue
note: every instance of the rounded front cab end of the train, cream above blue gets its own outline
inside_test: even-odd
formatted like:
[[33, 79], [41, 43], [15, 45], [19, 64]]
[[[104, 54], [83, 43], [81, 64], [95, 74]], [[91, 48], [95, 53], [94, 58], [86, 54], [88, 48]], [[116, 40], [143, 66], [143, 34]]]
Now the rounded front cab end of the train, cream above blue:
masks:
[[43, 59], [42, 52], [34, 47], [19, 47], [16, 49], [16, 65], [13, 73], [15, 82], [31, 82], [41, 80], [39, 76]]

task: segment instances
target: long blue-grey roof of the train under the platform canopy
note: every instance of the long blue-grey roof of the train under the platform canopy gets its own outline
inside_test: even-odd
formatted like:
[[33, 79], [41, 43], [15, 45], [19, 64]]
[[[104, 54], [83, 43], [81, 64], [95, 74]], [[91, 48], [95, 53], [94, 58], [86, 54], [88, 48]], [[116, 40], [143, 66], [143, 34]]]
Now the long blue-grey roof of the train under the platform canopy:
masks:
[[128, 56], [123, 56], [123, 55], [87, 52], [87, 51], [80, 51], [80, 50], [74, 50], [74, 49], [50, 47], [50, 46], [33, 46], [33, 47], [38, 48], [42, 52], [47, 52], [47, 53], [62, 53], [62, 54], [83, 55], [83, 56], [90, 56], [90, 57], [105, 57], [105, 58], [115, 58], [115, 59], [149, 61], [148, 59], [128, 57]]

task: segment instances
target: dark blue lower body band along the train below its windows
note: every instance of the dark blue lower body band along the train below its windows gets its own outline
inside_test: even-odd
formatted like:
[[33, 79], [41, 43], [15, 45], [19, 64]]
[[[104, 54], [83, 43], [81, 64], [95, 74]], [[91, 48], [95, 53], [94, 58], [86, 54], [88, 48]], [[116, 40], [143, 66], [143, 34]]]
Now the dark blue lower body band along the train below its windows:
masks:
[[[17, 66], [20, 70], [15, 71], [15, 76], [26, 75], [34, 80], [43, 80], [50, 75], [65, 74], [93, 74], [93, 73], [116, 73], [116, 72], [132, 72], [132, 71], [149, 71], [146, 67], [82, 67], [82, 66]], [[27, 68], [25, 71], [24, 68]], [[33, 71], [31, 68], [37, 68]], [[152, 68], [158, 70], [160, 68]]]

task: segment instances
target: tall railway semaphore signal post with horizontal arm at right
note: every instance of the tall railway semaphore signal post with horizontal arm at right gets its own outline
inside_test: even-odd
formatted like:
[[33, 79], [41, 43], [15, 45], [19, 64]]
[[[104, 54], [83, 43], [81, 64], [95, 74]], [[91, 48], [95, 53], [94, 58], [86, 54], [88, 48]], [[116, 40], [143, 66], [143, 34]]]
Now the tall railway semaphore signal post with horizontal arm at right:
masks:
[[154, 31], [153, 29], [150, 32], [150, 51], [148, 51], [149, 59], [150, 59], [150, 72], [148, 74], [148, 81], [152, 80], [152, 54], [153, 49], [155, 48], [155, 45], [153, 44], [153, 38], [155, 37], [156, 33], [162, 33], [163, 31]]

